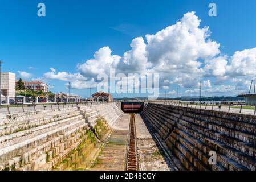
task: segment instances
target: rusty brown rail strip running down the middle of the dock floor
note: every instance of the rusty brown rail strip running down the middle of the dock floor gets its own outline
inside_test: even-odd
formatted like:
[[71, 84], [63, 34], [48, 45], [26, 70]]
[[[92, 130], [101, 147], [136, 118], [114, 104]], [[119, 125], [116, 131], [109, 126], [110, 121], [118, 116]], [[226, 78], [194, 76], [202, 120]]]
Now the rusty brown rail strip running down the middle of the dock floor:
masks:
[[135, 126], [134, 114], [131, 114], [130, 129], [129, 129], [127, 171], [138, 171], [136, 126]]

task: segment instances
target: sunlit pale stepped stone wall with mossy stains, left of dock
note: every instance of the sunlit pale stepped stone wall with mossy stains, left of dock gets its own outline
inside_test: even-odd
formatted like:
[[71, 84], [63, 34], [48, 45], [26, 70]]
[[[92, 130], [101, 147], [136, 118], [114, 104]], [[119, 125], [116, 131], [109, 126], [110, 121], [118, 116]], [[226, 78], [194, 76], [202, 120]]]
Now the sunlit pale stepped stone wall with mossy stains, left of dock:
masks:
[[59, 166], [101, 117], [115, 126], [119, 113], [115, 105], [100, 104], [0, 114], [0, 171]]

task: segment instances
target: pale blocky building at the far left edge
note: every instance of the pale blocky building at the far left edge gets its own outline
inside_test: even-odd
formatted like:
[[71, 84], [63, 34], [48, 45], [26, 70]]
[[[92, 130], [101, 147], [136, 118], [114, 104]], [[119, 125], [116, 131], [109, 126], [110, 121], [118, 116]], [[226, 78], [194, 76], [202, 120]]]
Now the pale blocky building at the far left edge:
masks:
[[16, 74], [11, 72], [2, 72], [1, 79], [2, 97], [9, 96], [10, 98], [15, 98]]

